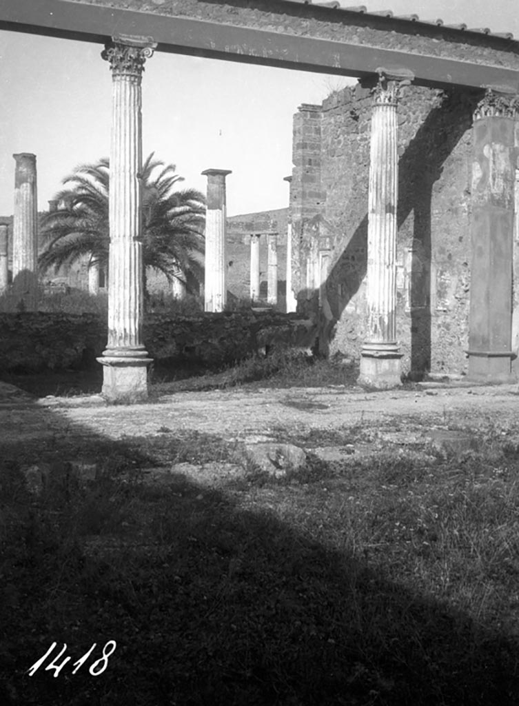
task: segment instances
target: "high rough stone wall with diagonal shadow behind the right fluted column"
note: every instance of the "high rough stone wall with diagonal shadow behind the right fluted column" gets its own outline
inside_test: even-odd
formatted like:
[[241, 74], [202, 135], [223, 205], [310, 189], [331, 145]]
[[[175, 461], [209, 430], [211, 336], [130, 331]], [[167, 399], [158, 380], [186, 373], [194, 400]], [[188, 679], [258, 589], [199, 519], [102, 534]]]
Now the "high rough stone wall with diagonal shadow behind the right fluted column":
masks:
[[[469, 95], [410, 87], [398, 106], [398, 339], [402, 370], [411, 376], [466, 369], [474, 104]], [[322, 277], [321, 348], [354, 357], [366, 321], [370, 120], [371, 96], [360, 85], [334, 92], [318, 111], [309, 114], [303, 106], [294, 116], [299, 311], [308, 312], [309, 300], [311, 308], [318, 306]], [[302, 123], [311, 143], [302, 140]], [[329, 254], [330, 265], [313, 276], [308, 292], [304, 270], [311, 251], [314, 263]]]

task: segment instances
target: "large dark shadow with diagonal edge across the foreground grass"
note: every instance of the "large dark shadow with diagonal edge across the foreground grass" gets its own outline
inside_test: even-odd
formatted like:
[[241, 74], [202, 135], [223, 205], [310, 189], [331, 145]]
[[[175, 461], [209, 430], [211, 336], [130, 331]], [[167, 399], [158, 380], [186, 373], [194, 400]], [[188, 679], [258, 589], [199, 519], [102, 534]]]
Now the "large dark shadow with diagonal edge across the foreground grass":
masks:
[[[4, 704], [517, 703], [519, 645], [499, 623], [387, 580], [344, 527], [339, 551], [280, 520], [274, 481], [263, 510], [243, 480], [141, 484], [150, 465], [228, 460], [220, 438], [161, 431], [157, 415], [155, 436], [112, 441], [59, 410], [14, 413], [46, 431], [0, 443]], [[67, 465], [84, 457], [100, 476], [85, 487]], [[52, 466], [39, 498], [20, 481], [33, 463]], [[117, 650], [91, 676], [108, 640]], [[25, 674], [54, 641], [72, 657], [59, 676]]]

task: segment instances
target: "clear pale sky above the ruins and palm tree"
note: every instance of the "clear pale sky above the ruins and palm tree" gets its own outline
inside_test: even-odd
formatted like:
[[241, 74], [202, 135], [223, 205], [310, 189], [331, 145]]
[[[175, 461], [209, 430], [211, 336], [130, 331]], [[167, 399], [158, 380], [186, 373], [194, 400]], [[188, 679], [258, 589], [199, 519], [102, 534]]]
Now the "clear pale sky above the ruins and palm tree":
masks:
[[[35, 0], [37, 1], [37, 0]], [[342, 0], [368, 11], [513, 32], [519, 0]], [[0, 32], [0, 215], [13, 213], [14, 152], [37, 155], [38, 208], [61, 179], [109, 154], [111, 77], [102, 46]], [[292, 173], [292, 116], [340, 76], [155, 53], [143, 77], [143, 153], [177, 165], [205, 191], [203, 169], [232, 169], [227, 213], [283, 208]]]

